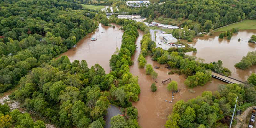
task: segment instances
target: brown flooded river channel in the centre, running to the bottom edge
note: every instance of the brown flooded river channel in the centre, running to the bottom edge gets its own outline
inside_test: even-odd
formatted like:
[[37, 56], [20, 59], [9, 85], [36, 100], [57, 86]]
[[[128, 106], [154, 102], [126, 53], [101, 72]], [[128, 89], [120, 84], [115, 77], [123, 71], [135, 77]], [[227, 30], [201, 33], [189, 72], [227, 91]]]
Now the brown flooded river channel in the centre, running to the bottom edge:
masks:
[[[136, 41], [138, 48], [135, 54], [132, 56], [132, 61], [134, 65], [130, 67], [130, 72], [139, 76], [140, 94], [139, 101], [132, 103], [138, 109], [139, 116], [138, 122], [142, 128], [164, 128], [167, 120], [167, 116], [172, 111], [172, 106], [178, 100], [189, 100], [201, 95], [204, 91], [215, 91], [220, 84], [226, 84], [223, 81], [212, 78], [211, 82], [208, 82], [203, 87], [195, 87], [193, 90], [195, 93], [188, 92], [185, 86], [185, 76], [184, 75], [168, 75], [170, 71], [167, 68], [154, 69], [158, 73], [158, 78], [153, 80], [150, 75], [146, 75], [145, 69], [138, 68], [137, 58], [140, 54], [140, 40], [142, 39], [143, 33], [139, 31], [139, 37]], [[164, 67], [164, 65], [158, 64], [152, 61], [150, 57], [146, 57], [147, 63], [154, 66]], [[162, 81], [171, 78], [178, 82], [178, 88], [181, 89], [180, 92], [174, 94], [174, 100], [172, 103], [165, 102], [165, 100], [172, 101], [172, 92], [167, 90], [167, 84], [162, 85]], [[157, 81], [157, 91], [151, 92], [150, 86], [153, 82]]]

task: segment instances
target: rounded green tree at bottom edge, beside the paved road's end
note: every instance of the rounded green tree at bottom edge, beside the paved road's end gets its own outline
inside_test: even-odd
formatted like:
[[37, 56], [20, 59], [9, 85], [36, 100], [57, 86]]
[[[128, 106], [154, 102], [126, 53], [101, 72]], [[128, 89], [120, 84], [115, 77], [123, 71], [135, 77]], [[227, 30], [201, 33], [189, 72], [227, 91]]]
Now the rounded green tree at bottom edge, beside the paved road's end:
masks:
[[111, 118], [110, 124], [110, 128], [125, 128], [127, 126], [124, 117], [119, 114]]

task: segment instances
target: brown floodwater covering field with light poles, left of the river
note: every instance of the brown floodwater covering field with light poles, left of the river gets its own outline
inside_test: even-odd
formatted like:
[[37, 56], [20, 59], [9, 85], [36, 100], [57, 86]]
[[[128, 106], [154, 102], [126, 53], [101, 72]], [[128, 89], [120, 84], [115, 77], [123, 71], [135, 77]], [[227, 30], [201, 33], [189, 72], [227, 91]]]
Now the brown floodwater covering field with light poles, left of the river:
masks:
[[[65, 55], [69, 58], [70, 62], [86, 60], [89, 68], [94, 64], [100, 64], [105, 72], [109, 73], [109, 60], [116, 47], [120, 49], [124, 33], [122, 30], [119, 30], [121, 26], [113, 25], [115, 25], [115, 28], [99, 23], [99, 28], [96, 31], [85, 36], [76, 44], [76, 48], [69, 49], [61, 54], [60, 57]], [[97, 38], [97, 40], [91, 41], [91, 38]]]

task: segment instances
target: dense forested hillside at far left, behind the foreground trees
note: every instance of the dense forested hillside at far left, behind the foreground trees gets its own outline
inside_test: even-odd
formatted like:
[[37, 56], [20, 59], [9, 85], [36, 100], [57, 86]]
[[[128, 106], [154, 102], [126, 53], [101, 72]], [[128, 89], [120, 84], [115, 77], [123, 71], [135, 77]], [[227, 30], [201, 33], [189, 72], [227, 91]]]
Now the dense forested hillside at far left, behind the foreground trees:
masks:
[[87, 11], [73, 3], [4, 0], [0, 5], [1, 93], [97, 28]]

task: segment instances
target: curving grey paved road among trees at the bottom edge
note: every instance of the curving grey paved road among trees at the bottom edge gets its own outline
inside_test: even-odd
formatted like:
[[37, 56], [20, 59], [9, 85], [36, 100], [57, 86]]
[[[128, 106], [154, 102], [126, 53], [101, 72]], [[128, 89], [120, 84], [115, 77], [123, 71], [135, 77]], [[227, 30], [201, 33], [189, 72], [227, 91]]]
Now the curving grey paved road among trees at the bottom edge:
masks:
[[116, 116], [116, 115], [122, 115], [122, 112], [116, 107], [116, 106], [113, 106], [113, 105], [110, 105], [110, 107], [108, 108], [108, 113], [107, 115], [104, 117], [105, 121], [106, 121], [106, 125], [104, 128], [110, 128], [110, 119], [111, 117], [113, 116]]

